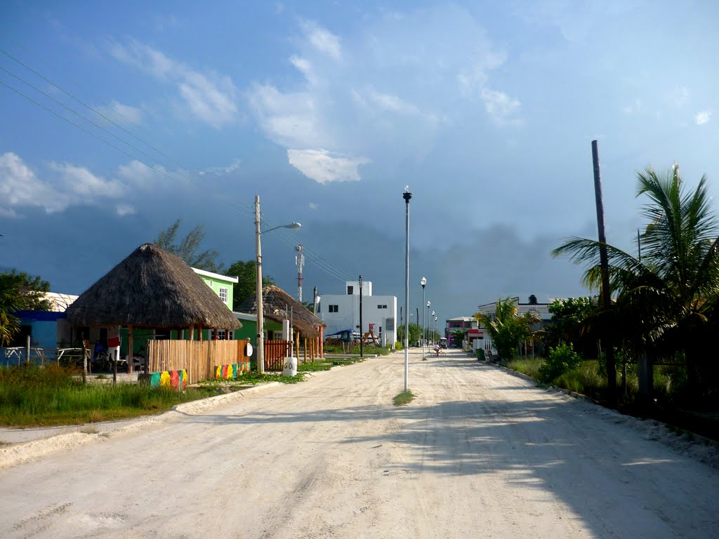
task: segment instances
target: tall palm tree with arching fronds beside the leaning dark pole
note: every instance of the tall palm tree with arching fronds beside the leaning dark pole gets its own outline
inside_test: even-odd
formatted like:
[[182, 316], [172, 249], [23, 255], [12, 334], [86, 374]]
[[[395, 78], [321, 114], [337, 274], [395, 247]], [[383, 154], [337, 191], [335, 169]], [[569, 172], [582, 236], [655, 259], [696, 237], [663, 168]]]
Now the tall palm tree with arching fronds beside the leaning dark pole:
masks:
[[[623, 333], [637, 354], [683, 353], [690, 394], [695, 394], [708, 313], [719, 299], [719, 226], [710, 213], [707, 180], [702, 176], [692, 193], [684, 193], [678, 165], [663, 176], [647, 167], [637, 173], [640, 195], [649, 197], [641, 260], [607, 245], [613, 310], [623, 320], [612, 331]], [[570, 238], [552, 254], [590, 264], [583, 280], [598, 289], [599, 252], [599, 241]]]

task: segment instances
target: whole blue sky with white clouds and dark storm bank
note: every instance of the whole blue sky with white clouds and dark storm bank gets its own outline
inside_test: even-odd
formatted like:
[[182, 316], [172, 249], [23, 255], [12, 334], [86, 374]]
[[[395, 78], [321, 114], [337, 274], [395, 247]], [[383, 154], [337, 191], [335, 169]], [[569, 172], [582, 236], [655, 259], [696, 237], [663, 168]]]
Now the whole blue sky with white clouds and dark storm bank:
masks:
[[[713, 1], [24, 2], [0, 6], [0, 267], [81, 293], [182, 219], [296, 292], [360, 274], [440, 319], [586, 295], [549, 251], [633, 250], [636, 171], [719, 180]], [[32, 99], [32, 101], [30, 101]], [[70, 123], [71, 122], [71, 123]], [[103, 140], [101, 140], [103, 139]]]

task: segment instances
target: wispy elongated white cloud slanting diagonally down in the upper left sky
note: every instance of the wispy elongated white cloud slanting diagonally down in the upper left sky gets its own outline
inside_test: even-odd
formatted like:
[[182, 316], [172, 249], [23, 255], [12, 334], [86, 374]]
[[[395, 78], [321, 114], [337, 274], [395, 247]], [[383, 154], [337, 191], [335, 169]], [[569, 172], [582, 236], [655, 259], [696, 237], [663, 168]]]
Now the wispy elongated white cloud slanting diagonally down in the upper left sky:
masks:
[[136, 40], [127, 46], [115, 43], [111, 54], [159, 80], [173, 83], [191, 113], [211, 126], [229, 124], [237, 116], [234, 102], [237, 89], [225, 75], [200, 73]]

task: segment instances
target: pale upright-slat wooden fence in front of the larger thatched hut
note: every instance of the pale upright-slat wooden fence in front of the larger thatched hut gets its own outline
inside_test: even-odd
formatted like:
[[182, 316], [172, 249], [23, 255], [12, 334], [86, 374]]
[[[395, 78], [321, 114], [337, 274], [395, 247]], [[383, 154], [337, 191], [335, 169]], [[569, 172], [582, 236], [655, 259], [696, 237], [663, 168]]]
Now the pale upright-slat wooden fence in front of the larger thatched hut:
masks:
[[148, 372], [185, 369], [188, 383], [210, 380], [219, 365], [249, 361], [247, 341], [147, 341]]

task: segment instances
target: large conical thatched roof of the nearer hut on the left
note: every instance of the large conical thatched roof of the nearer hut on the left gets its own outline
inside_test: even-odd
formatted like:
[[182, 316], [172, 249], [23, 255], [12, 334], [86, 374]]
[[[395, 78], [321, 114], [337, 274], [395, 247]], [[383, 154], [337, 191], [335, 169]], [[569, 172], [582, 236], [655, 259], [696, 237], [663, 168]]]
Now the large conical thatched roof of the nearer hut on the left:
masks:
[[232, 311], [186, 262], [143, 244], [68, 307], [75, 326], [241, 328]]

